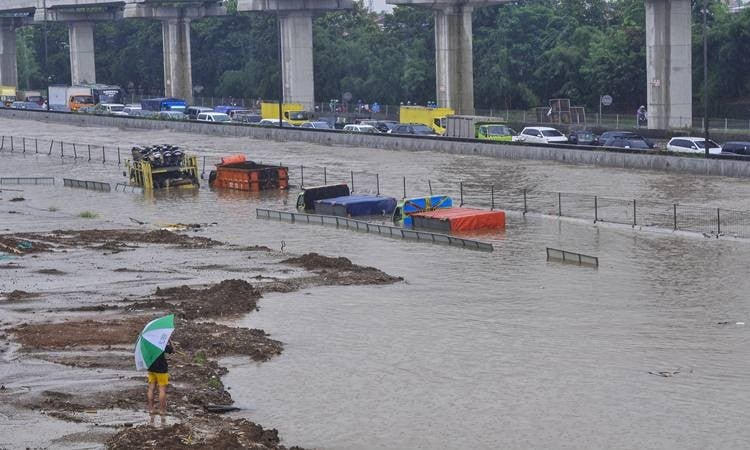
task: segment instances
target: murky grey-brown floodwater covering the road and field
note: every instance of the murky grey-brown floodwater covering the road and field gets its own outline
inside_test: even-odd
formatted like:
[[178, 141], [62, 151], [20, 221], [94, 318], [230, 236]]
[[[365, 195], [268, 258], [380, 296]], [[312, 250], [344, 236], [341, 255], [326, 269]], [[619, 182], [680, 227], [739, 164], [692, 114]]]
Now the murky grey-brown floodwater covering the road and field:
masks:
[[[425, 193], [427, 180], [436, 193], [455, 195], [464, 180], [494, 184], [501, 197], [533, 187], [750, 210], [747, 181], [719, 177], [11, 120], [0, 121], [0, 134], [123, 148], [173, 143], [213, 160], [243, 152], [326, 166], [329, 182], [348, 181], [350, 171], [378, 173], [380, 191], [396, 197], [406, 176], [413, 195]], [[0, 176], [114, 183], [124, 181], [121, 171], [0, 153]], [[84, 210], [100, 215], [87, 222], [96, 225], [132, 225], [131, 217], [216, 222], [207, 236], [272, 248], [284, 241], [289, 252], [345, 256], [403, 276], [391, 286], [268, 295], [259, 312], [231, 322], [285, 344], [269, 362], [224, 361], [241, 414], [277, 428], [285, 444], [703, 449], [750, 442], [750, 241], [510, 212], [504, 233], [481, 237], [495, 251], [481, 253], [255, 218], [257, 207], [290, 208], [294, 192], [202, 187], [149, 197], [8, 187], [27, 198], [14, 205], [20, 214], [0, 219], [11, 231], [80, 227]], [[467, 200], [487, 205], [479, 194]], [[600, 266], [548, 262], [546, 247], [598, 256]]]

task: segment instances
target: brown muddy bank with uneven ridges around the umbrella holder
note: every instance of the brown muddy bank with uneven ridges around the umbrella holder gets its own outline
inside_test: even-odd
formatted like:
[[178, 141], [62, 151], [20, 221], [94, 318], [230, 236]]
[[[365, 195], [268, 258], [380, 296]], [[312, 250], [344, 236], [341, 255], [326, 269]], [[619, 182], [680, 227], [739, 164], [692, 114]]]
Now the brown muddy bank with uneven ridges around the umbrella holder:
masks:
[[[180, 251], [224, 245], [166, 230], [58, 230], [0, 235], [0, 243], [6, 250], [16, 249], [13, 253], [20, 255], [19, 262], [23, 258], [44, 258], [45, 253], [73, 248], [89, 249], [96, 258], [140, 246], [162, 245], [170, 251]], [[237, 250], [226, 247], [226, 251]], [[239, 250], [271, 252], [264, 246]], [[230, 419], [213, 412], [233, 403], [221, 381], [227, 369], [218, 363], [220, 358], [234, 355], [267, 361], [281, 354], [283, 344], [263, 330], [230, 327], [213, 320], [256, 310], [264, 292], [294, 292], [320, 285], [387, 284], [402, 279], [372, 267], [355, 265], [346, 258], [315, 253], [291, 258], [280, 255], [275, 264], [289, 267], [278, 272], [295, 275], [286, 278], [251, 276], [246, 269], [236, 268], [235, 271], [225, 267], [223, 270], [242, 273], [245, 279], [240, 276], [213, 284], [203, 284], [196, 279], [191, 284], [159, 286], [144, 296], [125, 295], [115, 302], [102, 300], [96, 304], [47, 310], [53, 314], [44, 320], [36, 319], [32, 311], [26, 315], [26, 321], [6, 324], [2, 334], [20, 346], [18, 354], [22, 358], [89, 370], [95, 381], [101, 370], [132, 371], [133, 342], [139, 331], [153, 318], [174, 313], [176, 327], [172, 344], [175, 353], [168, 356], [171, 378], [168, 422], [162, 425], [161, 419], [155, 419], [155, 423], [123, 424], [103, 444], [114, 449], [286, 448], [280, 444], [276, 430], [264, 430], [247, 420]], [[13, 268], [19, 267], [23, 266], [13, 265]], [[294, 267], [304, 268], [304, 271]], [[126, 268], [114, 271], [132, 273], [134, 277], [149, 272]], [[44, 295], [21, 290], [5, 292], [0, 296], [0, 307], [38, 301]], [[92, 312], [103, 316], [92, 317]], [[71, 422], [87, 422], [87, 414], [95, 411], [143, 411], [146, 406], [143, 381], [144, 375], [138, 373], [122, 376], [121, 385], [114, 383], [91, 392], [48, 389], [25, 395], [3, 391], [0, 396], [4, 395], [18, 408]]]

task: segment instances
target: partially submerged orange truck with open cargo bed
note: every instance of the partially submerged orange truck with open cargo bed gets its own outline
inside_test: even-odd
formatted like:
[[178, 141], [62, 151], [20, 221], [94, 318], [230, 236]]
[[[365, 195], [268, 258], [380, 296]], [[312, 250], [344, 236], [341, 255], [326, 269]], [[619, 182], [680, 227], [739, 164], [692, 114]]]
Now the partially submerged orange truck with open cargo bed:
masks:
[[258, 192], [289, 187], [289, 168], [248, 161], [245, 155], [221, 158], [208, 176], [211, 187]]

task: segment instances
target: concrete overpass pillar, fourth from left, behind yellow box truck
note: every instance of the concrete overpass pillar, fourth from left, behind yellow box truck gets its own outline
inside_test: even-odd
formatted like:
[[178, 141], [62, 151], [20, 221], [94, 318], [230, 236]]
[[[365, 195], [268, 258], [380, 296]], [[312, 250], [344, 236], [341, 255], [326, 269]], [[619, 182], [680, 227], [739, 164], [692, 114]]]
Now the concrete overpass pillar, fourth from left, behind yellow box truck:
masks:
[[284, 102], [302, 103], [305, 110], [315, 106], [312, 56], [312, 11], [280, 13], [281, 59]]

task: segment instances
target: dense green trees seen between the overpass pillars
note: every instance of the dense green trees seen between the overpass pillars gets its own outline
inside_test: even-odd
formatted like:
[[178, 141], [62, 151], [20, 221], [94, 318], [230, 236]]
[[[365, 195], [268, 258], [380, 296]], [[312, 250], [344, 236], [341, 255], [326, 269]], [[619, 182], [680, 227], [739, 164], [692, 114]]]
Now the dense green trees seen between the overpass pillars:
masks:
[[[272, 13], [238, 13], [191, 22], [193, 84], [199, 95], [279, 97], [278, 24]], [[750, 10], [730, 14], [709, 0], [709, 89], [703, 92], [702, 2], [693, 6], [695, 102], [711, 99], [713, 113], [750, 97]], [[97, 79], [135, 94], [164, 90], [161, 23], [97, 22]], [[550, 98], [598, 109], [632, 112], [646, 101], [643, 0], [516, 0], [473, 14], [477, 108], [522, 109]], [[68, 29], [41, 24], [17, 32], [20, 88], [70, 82]], [[398, 6], [380, 18], [361, 1], [349, 11], [316, 15], [313, 23], [318, 101], [351, 92], [355, 101], [424, 104], [435, 98], [434, 13]], [[745, 115], [747, 111], [742, 111]]]

